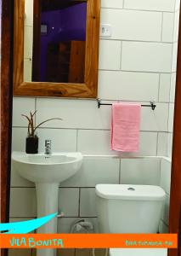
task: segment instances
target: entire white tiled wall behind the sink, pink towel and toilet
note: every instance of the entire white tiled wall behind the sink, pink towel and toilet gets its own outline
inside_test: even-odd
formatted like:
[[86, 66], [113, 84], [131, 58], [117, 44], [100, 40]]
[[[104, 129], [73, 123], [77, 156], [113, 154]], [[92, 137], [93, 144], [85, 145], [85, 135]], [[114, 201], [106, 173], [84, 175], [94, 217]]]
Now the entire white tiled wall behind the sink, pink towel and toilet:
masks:
[[[154, 112], [142, 108], [139, 154], [122, 154], [124, 158], [171, 156], [178, 2], [101, 1], [101, 23], [112, 26], [112, 36], [100, 38], [99, 98], [107, 102], [155, 101], [157, 106]], [[25, 19], [29, 37], [30, 10], [26, 8]], [[31, 67], [31, 43], [25, 42], [25, 65]], [[30, 74], [31, 68], [26, 70], [25, 80], [31, 79]], [[79, 150], [89, 155], [81, 171], [60, 184], [59, 210], [65, 212], [65, 218], [59, 219], [59, 232], [69, 232], [77, 218], [86, 217], [96, 223], [93, 189], [96, 183], [161, 183], [169, 195], [170, 167], [166, 167], [164, 160], [121, 159], [110, 151], [110, 107], [98, 109], [94, 100], [14, 97], [14, 150], [25, 150], [26, 121], [21, 113], [35, 110], [36, 123], [54, 117], [63, 119], [38, 130], [41, 151], [45, 138], [49, 138], [54, 151]], [[11, 195], [11, 217], [35, 217], [34, 184], [17, 177], [14, 170]], [[160, 226], [162, 231], [167, 230], [167, 207]]]

